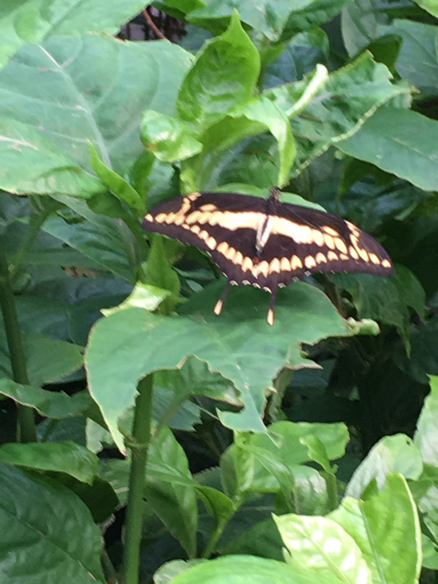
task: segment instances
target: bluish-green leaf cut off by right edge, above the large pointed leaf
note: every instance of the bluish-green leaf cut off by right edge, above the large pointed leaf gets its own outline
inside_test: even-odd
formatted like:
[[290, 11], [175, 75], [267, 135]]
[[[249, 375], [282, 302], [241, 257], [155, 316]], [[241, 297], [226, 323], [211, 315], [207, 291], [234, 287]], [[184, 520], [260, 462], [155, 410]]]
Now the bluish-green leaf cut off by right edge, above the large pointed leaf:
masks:
[[394, 20], [381, 34], [397, 34], [403, 40], [395, 64], [398, 74], [424, 93], [438, 93], [436, 26], [412, 20]]

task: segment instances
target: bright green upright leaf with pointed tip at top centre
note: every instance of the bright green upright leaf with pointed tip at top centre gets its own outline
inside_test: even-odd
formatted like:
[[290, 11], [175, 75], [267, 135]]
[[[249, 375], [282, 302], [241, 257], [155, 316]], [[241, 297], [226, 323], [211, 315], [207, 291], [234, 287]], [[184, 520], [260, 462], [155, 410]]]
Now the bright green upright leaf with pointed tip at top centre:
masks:
[[211, 126], [252, 98], [259, 71], [259, 53], [233, 12], [228, 29], [206, 43], [187, 73], [178, 94], [178, 116], [201, 129]]

